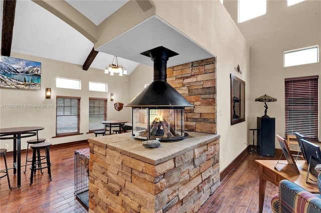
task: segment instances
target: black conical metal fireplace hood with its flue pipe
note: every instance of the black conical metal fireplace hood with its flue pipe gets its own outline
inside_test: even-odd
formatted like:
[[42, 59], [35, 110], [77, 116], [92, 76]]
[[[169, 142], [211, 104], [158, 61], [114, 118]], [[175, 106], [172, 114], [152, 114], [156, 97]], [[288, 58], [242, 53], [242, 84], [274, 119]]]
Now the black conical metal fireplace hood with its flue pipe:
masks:
[[151, 57], [153, 60], [154, 79], [153, 82], [130, 100], [126, 106], [194, 106], [167, 82], [167, 61], [169, 57], [178, 55], [178, 53], [164, 46], [158, 46], [140, 54]]

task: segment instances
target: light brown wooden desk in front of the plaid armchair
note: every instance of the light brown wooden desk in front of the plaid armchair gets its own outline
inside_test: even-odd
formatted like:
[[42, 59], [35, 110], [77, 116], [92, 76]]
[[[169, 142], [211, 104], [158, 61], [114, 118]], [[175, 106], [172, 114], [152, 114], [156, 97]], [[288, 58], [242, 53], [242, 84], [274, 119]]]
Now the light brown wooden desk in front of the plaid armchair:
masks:
[[[300, 174], [297, 174], [294, 169], [287, 164], [286, 160], [280, 160], [274, 168], [277, 160], [255, 160], [260, 165], [260, 179], [259, 179], [259, 211], [263, 210], [264, 195], [266, 180], [272, 182], [275, 185], [279, 185], [280, 180], [288, 179], [297, 185], [301, 186], [305, 190], [311, 193], [318, 193], [317, 183], [305, 182], [307, 163], [305, 160], [296, 160], [297, 168]], [[284, 164], [281, 164], [284, 163]]]

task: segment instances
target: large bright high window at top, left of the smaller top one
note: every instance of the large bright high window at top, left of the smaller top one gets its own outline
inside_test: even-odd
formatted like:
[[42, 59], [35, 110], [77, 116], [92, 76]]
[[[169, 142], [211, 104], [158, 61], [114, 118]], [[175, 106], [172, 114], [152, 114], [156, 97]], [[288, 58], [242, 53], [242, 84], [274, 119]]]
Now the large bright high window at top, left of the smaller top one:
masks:
[[255, 18], [266, 13], [266, 0], [238, 0], [238, 22]]

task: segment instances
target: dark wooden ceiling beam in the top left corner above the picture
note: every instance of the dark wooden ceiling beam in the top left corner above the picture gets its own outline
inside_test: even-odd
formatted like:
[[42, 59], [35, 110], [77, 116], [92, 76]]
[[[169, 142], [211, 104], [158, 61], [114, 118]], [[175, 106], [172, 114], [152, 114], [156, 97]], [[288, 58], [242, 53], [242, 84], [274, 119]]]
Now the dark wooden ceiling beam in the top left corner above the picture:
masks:
[[10, 56], [12, 36], [14, 31], [16, 0], [4, 0], [4, 14], [2, 18], [1, 54]]

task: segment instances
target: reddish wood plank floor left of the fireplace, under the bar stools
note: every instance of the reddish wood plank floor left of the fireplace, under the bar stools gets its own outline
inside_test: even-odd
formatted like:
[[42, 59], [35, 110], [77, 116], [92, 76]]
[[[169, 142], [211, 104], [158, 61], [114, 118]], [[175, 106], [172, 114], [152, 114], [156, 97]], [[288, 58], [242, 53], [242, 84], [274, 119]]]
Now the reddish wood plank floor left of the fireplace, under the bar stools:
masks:
[[[50, 148], [52, 162], [52, 180], [49, 180], [47, 169], [44, 174], [37, 171], [34, 182], [30, 183], [30, 169], [24, 173], [22, 167], [21, 187], [17, 188], [17, 175], [10, 169], [10, 181], [13, 189], [8, 187], [7, 177], [1, 178], [0, 212], [88, 212], [74, 196], [74, 151], [88, 147], [88, 142], [77, 145]], [[32, 152], [29, 157], [32, 156]], [[22, 163], [26, 154], [21, 155]], [[0, 169], [4, 169], [4, 160], [1, 157]], [[13, 156], [7, 156], [9, 167], [13, 165]]]

